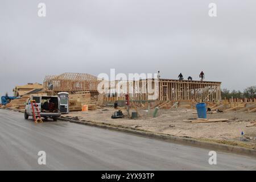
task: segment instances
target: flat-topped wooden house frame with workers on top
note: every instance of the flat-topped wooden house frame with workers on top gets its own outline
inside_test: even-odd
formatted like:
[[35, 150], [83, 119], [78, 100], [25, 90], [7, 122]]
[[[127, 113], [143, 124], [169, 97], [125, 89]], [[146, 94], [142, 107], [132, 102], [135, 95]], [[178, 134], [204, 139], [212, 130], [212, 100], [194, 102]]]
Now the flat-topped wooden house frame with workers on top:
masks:
[[[149, 81], [151, 82], [148, 85]], [[125, 100], [125, 94], [115, 94], [114, 88], [117, 88], [119, 81], [109, 83], [108, 93], [105, 93], [105, 100]], [[150, 87], [148, 87], [150, 86]], [[149, 90], [150, 88], [150, 90]], [[151, 89], [152, 88], [152, 89]], [[189, 81], [189, 80], [171, 80], [159, 79], [127, 81], [126, 90], [129, 90], [130, 100], [151, 100], [152, 90], [157, 92], [158, 101], [208, 101], [216, 102], [221, 100], [221, 82], [216, 81]], [[155, 94], [155, 93], [153, 93]]]

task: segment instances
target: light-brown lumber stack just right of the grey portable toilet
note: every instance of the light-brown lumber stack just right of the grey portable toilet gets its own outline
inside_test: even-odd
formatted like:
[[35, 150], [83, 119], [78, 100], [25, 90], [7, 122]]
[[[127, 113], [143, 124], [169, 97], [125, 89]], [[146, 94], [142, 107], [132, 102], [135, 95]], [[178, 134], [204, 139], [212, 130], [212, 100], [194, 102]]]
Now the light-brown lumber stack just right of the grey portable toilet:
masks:
[[82, 92], [69, 95], [69, 111], [81, 111], [82, 105], [89, 105], [90, 92]]

